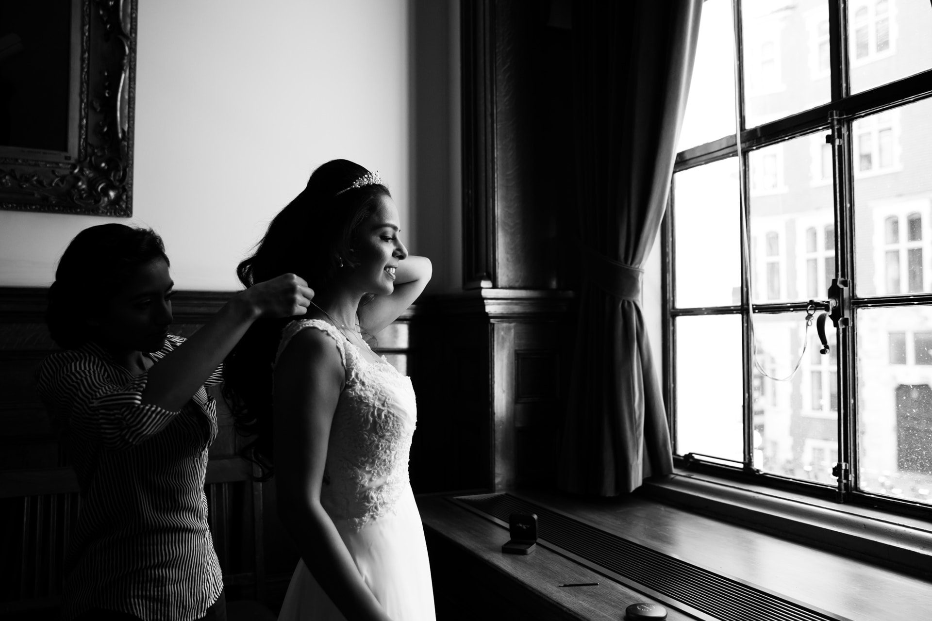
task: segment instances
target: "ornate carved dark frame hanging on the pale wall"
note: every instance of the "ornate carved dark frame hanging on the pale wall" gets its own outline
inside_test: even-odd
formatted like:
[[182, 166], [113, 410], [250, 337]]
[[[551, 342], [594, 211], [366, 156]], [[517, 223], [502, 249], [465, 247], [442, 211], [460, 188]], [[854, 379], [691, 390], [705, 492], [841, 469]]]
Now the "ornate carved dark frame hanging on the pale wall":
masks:
[[137, 0], [71, 0], [68, 150], [0, 145], [0, 209], [132, 215]]

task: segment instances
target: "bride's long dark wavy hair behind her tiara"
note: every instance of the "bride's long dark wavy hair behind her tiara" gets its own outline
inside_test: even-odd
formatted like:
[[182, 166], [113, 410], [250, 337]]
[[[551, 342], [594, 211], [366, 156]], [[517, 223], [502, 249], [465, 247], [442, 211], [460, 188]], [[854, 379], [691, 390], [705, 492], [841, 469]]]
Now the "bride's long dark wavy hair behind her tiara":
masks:
[[[366, 173], [346, 159], [314, 170], [308, 186], [272, 219], [254, 253], [237, 266], [240, 282], [252, 287], [291, 272], [315, 292], [326, 290], [340, 261], [355, 264], [349, 259], [353, 237], [373, 213], [377, 196], [391, 196], [382, 184], [350, 187]], [[224, 365], [224, 398], [234, 425], [240, 434], [254, 437], [240, 455], [261, 467], [259, 480], [274, 473], [272, 367], [281, 330], [292, 318], [255, 321]]]

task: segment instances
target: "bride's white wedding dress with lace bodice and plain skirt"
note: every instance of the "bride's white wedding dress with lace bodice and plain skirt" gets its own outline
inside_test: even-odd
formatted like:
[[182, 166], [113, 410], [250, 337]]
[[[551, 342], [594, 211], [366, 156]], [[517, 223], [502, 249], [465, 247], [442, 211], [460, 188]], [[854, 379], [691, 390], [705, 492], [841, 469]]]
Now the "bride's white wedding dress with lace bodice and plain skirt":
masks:
[[[417, 420], [411, 379], [381, 358], [373, 362], [321, 319], [293, 321], [279, 354], [299, 331], [313, 328], [336, 342], [346, 385], [336, 405], [321, 504], [385, 611], [397, 621], [434, 621], [431, 567], [408, 481], [408, 452]], [[299, 560], [279, 621], [340, 620]]]

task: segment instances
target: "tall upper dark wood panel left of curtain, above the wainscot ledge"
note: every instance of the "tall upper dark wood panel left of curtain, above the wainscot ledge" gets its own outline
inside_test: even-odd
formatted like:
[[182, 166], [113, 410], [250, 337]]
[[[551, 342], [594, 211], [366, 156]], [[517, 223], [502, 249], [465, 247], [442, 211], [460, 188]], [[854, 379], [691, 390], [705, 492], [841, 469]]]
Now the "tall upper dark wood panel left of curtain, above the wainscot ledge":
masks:
[[552, 3], [464, 0], [463, 284], [575, 282], [569, 30]]

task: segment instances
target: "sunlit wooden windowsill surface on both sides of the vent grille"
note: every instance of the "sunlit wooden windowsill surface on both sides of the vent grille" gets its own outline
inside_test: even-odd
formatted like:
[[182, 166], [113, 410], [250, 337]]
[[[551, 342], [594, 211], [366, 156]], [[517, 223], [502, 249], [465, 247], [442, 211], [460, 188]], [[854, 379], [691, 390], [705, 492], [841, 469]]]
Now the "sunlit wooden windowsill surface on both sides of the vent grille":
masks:
[[[852, 621], [919, 619], [932, 610], [932, 582], [923, 577], [715, 519], [681, 506], [681, 498], [674, 505], [647, 493], [612, 499], [541, 492], [515, 494], [716, 574]], [[528, 557], [501, 554], [507, 529], [443, 496], [421, 496], [418, 506], [429, 541], [442, 540], [448, 548], [459, 550], [460, 555], [484, 567], [484, 584], [498, 584], [501, 590], [512, 593], [523, 588], [531, 601], [548, 602], [561, 611], [554, 618], [619, 619], [624, 618], [629, 603], [651, 601], [637, 590], [545, 547], [539, 546]], [[437, 562], [432, 557], [432, 566]], [[435, 575], [434, 580], [442, 581], [443, 576]], [[555, 587], [560, 582], [600, 584]], [[463, 597], [474, 595], [464, 591]], [[667, 609], [670, 619], [697, 618], [669, 605]]]

